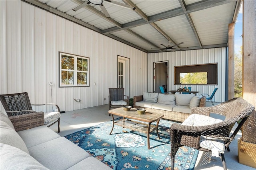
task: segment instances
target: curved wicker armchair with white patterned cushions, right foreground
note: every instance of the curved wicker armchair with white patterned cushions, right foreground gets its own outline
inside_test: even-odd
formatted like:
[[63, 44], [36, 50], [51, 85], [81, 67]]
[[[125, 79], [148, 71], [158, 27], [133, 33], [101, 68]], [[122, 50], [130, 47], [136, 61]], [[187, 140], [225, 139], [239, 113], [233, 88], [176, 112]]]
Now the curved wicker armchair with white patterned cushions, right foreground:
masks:
[[[234, 141], [254, 108], [242, 98], [234, 98], [211, 107], [193, 107], [192, 114], [182, 124], [174, 123], [170, 127], [171, 170], [174, 170], [176, 152], [182, 146], [212, 152], [212, 156], [220, 156], [223, 169], [226, 170], [224, 152], [229, 151], [228, 146]], [[210, 113], [224, 115], [225, 119], [214, 119], [209, 116]], [[236, 122], [238, 126], [231, 133]]]

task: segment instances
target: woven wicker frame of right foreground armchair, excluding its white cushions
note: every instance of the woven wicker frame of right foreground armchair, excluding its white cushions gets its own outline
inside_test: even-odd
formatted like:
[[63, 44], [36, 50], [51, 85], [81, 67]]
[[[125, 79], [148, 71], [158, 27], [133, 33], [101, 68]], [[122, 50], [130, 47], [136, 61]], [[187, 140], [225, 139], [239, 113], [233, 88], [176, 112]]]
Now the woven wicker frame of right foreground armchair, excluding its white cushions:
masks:
[[[254, 106], [249, 104], [242, 98], [234, 98], [222, 104], [212, 107], [194, 107], [192, 114], [210, 115], [210, 113], [217, 113], [224, 115], [224, 121], [213, 125], [206, 126], [186, 126], [174, 123], [170, 127], [171, 139], [171, 163], [172, 170], [174, 170], [174, 157], [179, 147], [188, 146], [194, 149], [211, 152], [211, 150], [200, 147], [200, 137], [212, 137], [223, 139], [225, 150], [229, 151], [228, 146], [234, 140], [235, 135], [238, 133], [248, 116], [254, 111]], [[238, 127], [234, 133], [231, 134], [232, 127], [236, 122]], [[227, 169], [224, 158], [224, 153], [220, 154], [224, 170]]]

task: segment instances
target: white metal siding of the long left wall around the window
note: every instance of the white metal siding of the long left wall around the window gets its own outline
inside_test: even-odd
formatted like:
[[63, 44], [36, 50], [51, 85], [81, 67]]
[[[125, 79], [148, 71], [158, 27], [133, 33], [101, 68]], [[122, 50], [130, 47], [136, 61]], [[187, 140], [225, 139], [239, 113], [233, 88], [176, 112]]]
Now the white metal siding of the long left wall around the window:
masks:
[[[28, 92], [32, 104], [53, 102], [65, 111], [108, 104], [117, 55], [130, 58], [130, 98], [147, 90], [146, 53], [25, 2], [0, 3], [0, 94]], [[90, 87], [58, 87], [59, 51], [90, 58]]]

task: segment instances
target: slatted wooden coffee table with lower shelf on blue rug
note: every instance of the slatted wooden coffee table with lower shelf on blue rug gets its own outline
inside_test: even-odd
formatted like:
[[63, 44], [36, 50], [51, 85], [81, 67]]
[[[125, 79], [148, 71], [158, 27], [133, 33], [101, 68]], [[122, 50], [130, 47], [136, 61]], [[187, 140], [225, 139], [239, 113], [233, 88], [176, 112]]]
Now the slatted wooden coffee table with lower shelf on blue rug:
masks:
[[[138, 114], [137, 110], [134, 108], [131, 108], [130, 111], [124, 111], [123, 107], [111, 109], [108, 111], [112, 115], [113, 119], [113, 126], [109, 134], [112, 133], [114, 125], [118, 125], [121, 127], [125, 127], [128, 129], [132, 129], [134, 131], [139, 131], [142, 133], [147, 134], [148, 139], [148, 149], [150, 149], [150, 143], [149, 143], [149, 134], [156, 130], [156, 134], [158, 138], [160, 139], [158, 135], [158, 123], [162, 117], [164, 117], [164, 114], [152, 112], [152, 111], [146, 111], [144, 115]], [[118, 115], [123, 117], [122, 119], [119, 119], [117, 121], [114, 120], [113, 115]], [[131, 120], [132, 119], [132, 120]], [[140, 122], [142, 121], [142, 122]], [[151, 123], [157, 121], [156, 125], [151, 125]]]

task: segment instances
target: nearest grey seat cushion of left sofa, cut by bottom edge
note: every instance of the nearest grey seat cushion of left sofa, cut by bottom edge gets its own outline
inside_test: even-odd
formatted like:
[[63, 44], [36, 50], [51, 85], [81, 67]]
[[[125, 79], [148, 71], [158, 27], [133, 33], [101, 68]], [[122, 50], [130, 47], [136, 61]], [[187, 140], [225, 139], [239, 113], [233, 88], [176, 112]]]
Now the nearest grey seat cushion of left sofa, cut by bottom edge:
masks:
[[109, 166], [106, 166], [106, 164], [94, 158], [93, 156], [90, 156], [89, 158], [85, 158], [81, 162], [78, 162], [74, 166], [71, 166], [70, 168], [68, 168], [68, 170], [94, 170], [94, 169], [112, 170], [112, 168], [110, 168]]

